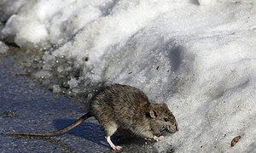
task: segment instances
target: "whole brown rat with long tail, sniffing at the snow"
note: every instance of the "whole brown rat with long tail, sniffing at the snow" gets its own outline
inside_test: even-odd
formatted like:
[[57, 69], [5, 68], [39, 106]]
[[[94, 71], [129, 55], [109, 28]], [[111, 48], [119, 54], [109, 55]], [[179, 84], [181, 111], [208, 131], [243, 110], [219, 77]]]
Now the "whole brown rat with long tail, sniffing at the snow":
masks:
[[106, 133], [106, 140], [113, 150], [122, 147], [113, 144], [110, 137], [117, 129], [125, 129], [143, 137], [145, 140], [160, 141], [164, 136], [156, 136], [167, 131], [178, 131], [175, 116], [167, 105], [157, 104], [148, 99], [140, 89], [128, 85], [106, 85], [95, 94], [90, 101], [90, 109], [68, 127], [50, 133], [2, 133], [7, 135], [26, 135], [50, 137], [60, 135], [77, 127], [87, 118], [95, 116]]

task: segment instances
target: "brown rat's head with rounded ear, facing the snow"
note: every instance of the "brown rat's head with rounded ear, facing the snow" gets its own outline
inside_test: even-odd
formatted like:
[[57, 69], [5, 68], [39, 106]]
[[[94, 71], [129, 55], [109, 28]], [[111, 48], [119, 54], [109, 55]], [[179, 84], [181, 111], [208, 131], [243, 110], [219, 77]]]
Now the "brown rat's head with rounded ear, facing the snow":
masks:
[[163, 131], [176, 133], [178, 131], [175, 117], [166, 104], [151, 103], [148, 116], [153, 133], [161, 133]]

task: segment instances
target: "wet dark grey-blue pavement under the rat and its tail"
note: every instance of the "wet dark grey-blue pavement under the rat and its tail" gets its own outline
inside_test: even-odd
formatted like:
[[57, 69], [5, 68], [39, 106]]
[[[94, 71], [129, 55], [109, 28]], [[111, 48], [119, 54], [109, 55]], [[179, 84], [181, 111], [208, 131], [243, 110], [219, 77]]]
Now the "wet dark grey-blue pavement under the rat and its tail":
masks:
[[[0, 54], [0, 133], [51, 132], [67, 127], [86, 113], [79, 100], [56, 97], [26, 71], [15, 68], [12, 55]], [[18, 137], [0, 134], [0, 150], [15, 152], [114, 152], [104, 139], [95, 118], [89, 118], [71, 131], [51, 138]], [[123, 146], [118, 152], [157, 152], [153, 143], [130, 134], [115, 134], [113, 143]]]

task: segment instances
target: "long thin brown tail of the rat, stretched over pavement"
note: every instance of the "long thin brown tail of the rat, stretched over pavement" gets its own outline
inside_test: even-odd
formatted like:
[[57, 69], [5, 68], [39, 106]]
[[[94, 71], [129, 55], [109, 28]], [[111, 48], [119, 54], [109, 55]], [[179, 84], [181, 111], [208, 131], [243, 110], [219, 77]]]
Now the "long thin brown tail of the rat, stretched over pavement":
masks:
[[91, 115], [90, 113], [81, 116], [77, 121], [73, 122], [70, 126], [64, 127], [61, 130], [51, 132], [51, 133], [2, 133], [6, 135], [24, 135], [24, 136], [41, 136], [41, 137], [50, 137], [55, 135], [61, 135], [62, 133], [67, 133], [67, 131], [71, 130], [73, 127], [77, 127], [80, 123], [84, 122]]

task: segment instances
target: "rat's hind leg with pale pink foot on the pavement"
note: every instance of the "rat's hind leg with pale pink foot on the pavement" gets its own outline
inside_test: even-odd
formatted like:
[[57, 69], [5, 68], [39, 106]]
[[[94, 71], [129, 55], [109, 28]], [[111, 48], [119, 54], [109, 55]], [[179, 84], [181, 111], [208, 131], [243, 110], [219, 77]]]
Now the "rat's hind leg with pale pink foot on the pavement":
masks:
[[113, 144], [113, 142], [111, 141], [110, 137], [113, 135], [113, 133], [116, 132], [116, 130], [118, 129], [118, 126], [115, 122], [108, 122], [108, 125], [104, 126], [105, 128], [105, 132], [106, 132], [106, 139], [108, 144], [111, 146], [111, 148], [113, 150], [120, 150], [122, 147], [121, 146], [116, 146]]

